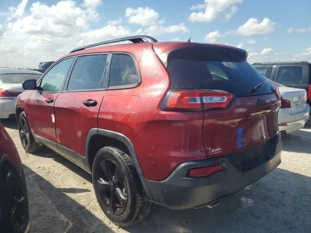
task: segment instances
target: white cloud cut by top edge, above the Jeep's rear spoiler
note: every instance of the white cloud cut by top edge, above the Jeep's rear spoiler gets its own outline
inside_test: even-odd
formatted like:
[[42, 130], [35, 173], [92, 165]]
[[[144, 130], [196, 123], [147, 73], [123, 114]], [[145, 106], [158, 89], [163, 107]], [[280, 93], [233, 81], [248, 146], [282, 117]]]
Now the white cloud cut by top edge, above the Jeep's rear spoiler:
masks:
[[[238, 11], [236, 6], [243, 0], [204, 0], [203, 4], [196, 4], [191, 10], [201, 10], [192, 12], [188, 19], [191, 22], [210, 22], [214, 19], [227, 21], [234, 13]], [[202, 11], [204, 10], [205, 11]]]

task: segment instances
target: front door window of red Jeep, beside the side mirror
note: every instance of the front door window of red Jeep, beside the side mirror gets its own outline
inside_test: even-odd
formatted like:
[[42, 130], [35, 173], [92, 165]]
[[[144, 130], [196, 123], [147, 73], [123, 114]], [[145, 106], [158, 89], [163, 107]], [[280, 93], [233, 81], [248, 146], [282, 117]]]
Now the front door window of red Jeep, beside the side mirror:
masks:
[[72, 63], [72, 57], [57, 63], [41, 80], [42, 91], [57, 92], [61, 90], [66, 74]]

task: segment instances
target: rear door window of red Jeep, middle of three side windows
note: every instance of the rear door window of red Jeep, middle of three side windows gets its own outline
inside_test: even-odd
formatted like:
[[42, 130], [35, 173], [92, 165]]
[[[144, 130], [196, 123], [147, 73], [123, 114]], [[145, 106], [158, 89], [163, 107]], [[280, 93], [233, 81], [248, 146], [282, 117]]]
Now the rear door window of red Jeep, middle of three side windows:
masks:
[[67, 90], [95, 90], [103, 88], [107, 55], [78, 57], [72, 69]]

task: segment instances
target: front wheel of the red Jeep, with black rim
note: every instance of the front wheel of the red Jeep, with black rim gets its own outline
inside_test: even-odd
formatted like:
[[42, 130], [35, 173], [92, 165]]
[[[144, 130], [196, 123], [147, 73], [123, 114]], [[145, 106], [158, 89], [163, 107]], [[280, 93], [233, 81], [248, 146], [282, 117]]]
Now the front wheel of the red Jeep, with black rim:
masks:
[[30, 130], [25, 112], [21, 112], [18, 116], [18, 133], [21, 145], [26, 152], [34, 153], [41, 148], [41, 146], [36, 143], [33, 133]]

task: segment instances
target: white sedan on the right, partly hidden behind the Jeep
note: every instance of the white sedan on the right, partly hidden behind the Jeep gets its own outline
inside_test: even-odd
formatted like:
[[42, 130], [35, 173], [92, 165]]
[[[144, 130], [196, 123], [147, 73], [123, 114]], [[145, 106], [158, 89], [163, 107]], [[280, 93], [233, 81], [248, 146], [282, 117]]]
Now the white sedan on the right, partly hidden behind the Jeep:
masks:
[[278, 87], [281, 94], [281, 107], [278, 112], [278, 129], [282, 134], [303, 128], [309, 119], [310, 106], [304, 89], [283, 86], [268, 80]]

